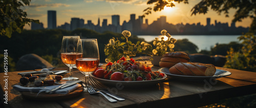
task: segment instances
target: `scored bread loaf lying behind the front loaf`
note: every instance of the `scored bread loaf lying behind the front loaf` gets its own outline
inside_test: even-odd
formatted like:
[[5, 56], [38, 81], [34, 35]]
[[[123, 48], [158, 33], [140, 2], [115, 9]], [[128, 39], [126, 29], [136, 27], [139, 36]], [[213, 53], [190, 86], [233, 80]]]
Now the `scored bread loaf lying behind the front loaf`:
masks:
[[163, 55], [163, 58], [159, 62], [160, 67], [170, 68], [179, 62], [188, 62], [189, 57], [183, 52], [171, 52]]

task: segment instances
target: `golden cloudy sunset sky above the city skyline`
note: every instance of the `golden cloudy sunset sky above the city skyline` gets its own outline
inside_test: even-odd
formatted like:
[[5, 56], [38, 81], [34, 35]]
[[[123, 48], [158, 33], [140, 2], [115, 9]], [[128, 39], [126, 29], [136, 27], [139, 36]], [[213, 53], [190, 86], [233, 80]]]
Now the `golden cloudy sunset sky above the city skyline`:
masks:
[[[28, 18], [39, 19], [44, 24], [44, 28], [47, 28], [47, 10], [57, 11], [57, 26], [64, 24], [65, 22], [70, 24], [71, 17], [79, 17], [84, 19], [84, 23], [87, 24], [87, 20], [92, 20], [92, 23], [97, 25], [98, 18], [100, 18], [100, 25], [103, 18], [108, 19], [108, 24], [111, 24], [111, 15], [120, 15], [120, 25], [123, 21], [130, 20], [130, 14], [136, 14], [136, 19], [139, 15], [143, 15], [143, 10], [147, 7], [153, 7], [153, 5], [147, 5], [148, 0], [31, 0], [29, 7], [24, 7], [28, 14]], [[163, 11], [153, 12], [147, 15], [148, 24], [153, 23], [162, 15], [167, 17], [167, 22], [172, 24], [178, 23], [198, 23], [206, 25], [206, 18], [211, 18], [211, 24], [217, 20], [221, 23], [228, 23], [230, 26], [233, 14], [236, 10], [232, 9], [229, 12], [229, 17], [225, 17], [222, 13], [218, 15], [215, 11], [208, 11], [207, 14], [200, 14], [196, 16], [190, 16], [190, 10], [200, 2], [200, 0], [190, 0], [189, 4], [175, 3], [175, 7], [164, 9]], [[145, 23], [145, 22], [144, 22]], [[236, 27], [243, 26], [249, 27], [251, 23], [250, 18], [243, 19], [242, 22], [236, 23]], [[25, 29], [30, 29], [27, 25]]]

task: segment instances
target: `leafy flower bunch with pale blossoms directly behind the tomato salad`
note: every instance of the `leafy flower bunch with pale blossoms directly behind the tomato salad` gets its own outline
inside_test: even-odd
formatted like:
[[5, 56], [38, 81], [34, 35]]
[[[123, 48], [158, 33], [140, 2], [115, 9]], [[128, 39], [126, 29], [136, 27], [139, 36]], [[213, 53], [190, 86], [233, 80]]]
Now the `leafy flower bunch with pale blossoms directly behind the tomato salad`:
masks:
[[130, 58], [130, 56], [136, 56], [137, 53], [146, 54], [145, 52], [151, 52], [152, 46], [147, 44], [147, 42], [137, 41], [136, 44], [133, 44], [128, 38], [131, 36], [130, 31], [122, 32], [122, 40], [125, 42], [121, 42], [118, 38], [112, 38], [109, 40], [109, 44], [105, 45], [104, 52], [107, 56], [105, 62], [114, 62], [119, 60], [122, 57]]

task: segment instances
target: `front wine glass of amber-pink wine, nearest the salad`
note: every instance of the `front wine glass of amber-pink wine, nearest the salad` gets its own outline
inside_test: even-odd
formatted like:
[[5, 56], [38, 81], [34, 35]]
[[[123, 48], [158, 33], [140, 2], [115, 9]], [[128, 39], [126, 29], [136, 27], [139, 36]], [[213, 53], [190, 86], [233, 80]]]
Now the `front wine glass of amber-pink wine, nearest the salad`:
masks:
[[[79, 44], [81, 44], [81, 47]], [[83, 57], [76, 59], [76, 67], [86, 76], [85, 83], [88, 85], [89, 75], [99, 66], [98, 42], [97, 39], [82, 38], [79, 40], [78, 45], [77, 51], [82, 51]]]

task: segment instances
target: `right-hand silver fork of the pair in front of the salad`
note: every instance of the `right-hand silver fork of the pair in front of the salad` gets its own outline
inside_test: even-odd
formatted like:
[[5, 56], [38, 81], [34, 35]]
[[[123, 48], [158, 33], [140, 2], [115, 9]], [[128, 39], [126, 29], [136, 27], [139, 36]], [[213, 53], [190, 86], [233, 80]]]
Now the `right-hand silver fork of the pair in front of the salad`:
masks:
[[[89, 77], [91, 80], [90, 80], [90, 82], [91, 82], [91, 84], [93, 84], [93, 86], [95, 87], [95, 88], [102, 88], [102, 85], [100, 85], [97, 81], [95, 81], [93, 78], [91, 78], [91, 77]], [[103, 93], [105, 93], [106, 95], [109, 95], [109, 96], [111, 96], [112, 98], [115, 98], [116, 100], [118, 100], [118, 101], [124, 101], [125, 99], [124, 98], [122, 98], [122, 97], [119, 97], [119, 96], [116, 96], [116, 95], [114, 95], [114, 94], [112, 94], [112, 93], [110, 93], [110, 92], [108, 92], [106, 89], [95, 89], [96, 91], [100, 91], [100, 92], [103, 92]]]

